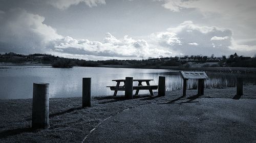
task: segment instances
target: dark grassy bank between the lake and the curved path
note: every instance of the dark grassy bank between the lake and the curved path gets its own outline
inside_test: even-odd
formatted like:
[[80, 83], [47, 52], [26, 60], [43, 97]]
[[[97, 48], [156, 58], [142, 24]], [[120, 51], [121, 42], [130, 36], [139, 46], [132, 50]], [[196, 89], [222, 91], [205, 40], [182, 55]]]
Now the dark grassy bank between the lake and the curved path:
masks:
[[[124, 96], [97, 96], [92, 97], [92, 107], [82, 108], [81, 97], [50, 98], [49, 118], [50, 128], [45, 130], [31, 130], [32, 99], [0, 100], [0, 142], [81, 142], [90, 131], [101, 124], [106, 118], [116, 116], [128, 108], [140, 109], [140, 106], [158, 105], [169, 101], [190, 101], [197, 90], [187, 90], [186, 98], [179, 99], [182, 90], [166, 92], [166, 96], [151, 97], [148, 94], [136, 96], [132, 100], [125, 100]], [[240, 101], [256, 103], [256, 86], [244, 86], [244, 95], [239, 100], [233, 100], [236, 88], [205, 89], [205, 95], [195, 100], [195, 103], [204, 103], [201, 99], [215, 103], [215, 100]], [[156, 94], [157, 95], [157, 94]], [[178, 100], [178, 101], [179, 101]], [[193, 102], [192, 102], [193, 103]], [[182, 104], [173, 104], [182, 107]], [[196, 104], [195, 104], [196, 105]], [[255, 106], [255, 104], [253, 104]], [[194, 108], [194, 104], [190, 108]], [[145, 110], [145, 109], [144, 109]], [[251, 111], [255, 111], [255, 109]], [[164, 116], [164, 115], [163, 115]]]

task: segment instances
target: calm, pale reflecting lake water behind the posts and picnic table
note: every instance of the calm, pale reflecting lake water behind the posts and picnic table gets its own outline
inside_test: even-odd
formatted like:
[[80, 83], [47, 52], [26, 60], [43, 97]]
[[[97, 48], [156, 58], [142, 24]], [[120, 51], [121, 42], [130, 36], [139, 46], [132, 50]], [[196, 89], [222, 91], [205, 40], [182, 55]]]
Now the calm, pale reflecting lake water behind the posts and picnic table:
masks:
[[[225, 88], [236, 85], [236, 77], [243, 76], [244, 84], [256, 84], [254, 74], [229, 74], [208, 72], [209, 80], [205, 88]], [[74, 67], [60, 69], [41, 66], [2, 66], [0, 67], [0, 99], [32, 98], [33, 82], [50, 83], [50, 98], [78, 97], [82, 95], [82, 78], [92, 78], [92, 96], [113, 95], [107, 85], [116, 85], [112, 79], [124, 79], [126, 76], [134, 79], [154, 79], [151, 85], [158, 84], [158, 76], [166, 77], [166, 90], [182, 88], [182, 78], [179, 73], [160, 69], [126, 69]], [[136, 84], [136, 83], [134, 83]], [[188, 80], [188, 89], [195, 89], [197, 82]], [[148, 91], [140, 91], [148, 93]], [[118, 92], [123, 95], [124, 92]]]

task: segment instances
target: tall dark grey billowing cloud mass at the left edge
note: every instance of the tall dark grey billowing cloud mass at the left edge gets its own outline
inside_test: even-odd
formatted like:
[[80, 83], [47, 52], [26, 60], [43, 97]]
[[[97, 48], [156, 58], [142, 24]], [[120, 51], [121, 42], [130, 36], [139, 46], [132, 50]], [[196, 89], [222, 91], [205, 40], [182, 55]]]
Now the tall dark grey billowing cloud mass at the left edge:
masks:
[[44, 24], [45, 18], [24, 9], [11, 9], [0, 14], [0, 51], [22, 53], [46, 51], [46, 45], [62, 38], [56, 30]]

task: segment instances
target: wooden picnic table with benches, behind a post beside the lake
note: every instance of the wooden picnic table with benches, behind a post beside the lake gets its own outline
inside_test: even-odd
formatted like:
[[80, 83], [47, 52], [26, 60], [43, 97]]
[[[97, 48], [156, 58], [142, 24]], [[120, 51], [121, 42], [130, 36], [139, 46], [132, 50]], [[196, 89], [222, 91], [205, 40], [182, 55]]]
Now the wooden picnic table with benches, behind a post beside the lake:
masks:
[[[152, 90], [157, 90], [158, 85], [150, 85], [150, 81], [154, 79], [133, 79], [133, 81], [137, 81], [138, 85], [133, 86], [133, 90], [136, 90], [135, 95], [139, 94], [139, 90], [148, 90], [150, 91], [151, 96], [154, 96]], [[125, 91], [125, 79], [114, 79], [112, 81], [116, 81], [116, 86], [107, 86], [110, 90], [115, 91], [113, 96], [116, 96], [117, 91]], [[120, 86], [120, 82], [123, 82], [123, 86]], [[142, 82], [146, 82], [146, 85], [142, 85]]]

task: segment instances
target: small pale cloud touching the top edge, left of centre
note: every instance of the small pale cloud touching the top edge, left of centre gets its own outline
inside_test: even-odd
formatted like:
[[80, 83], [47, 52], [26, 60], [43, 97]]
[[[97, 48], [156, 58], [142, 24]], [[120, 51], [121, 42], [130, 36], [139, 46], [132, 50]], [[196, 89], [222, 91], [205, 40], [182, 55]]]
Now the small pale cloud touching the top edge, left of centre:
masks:
[[89, 7], [97, 6], [98, 4], [105, 4], [104, 0], [48, 0], [48, 3], [60, 10], [68, 9], [72, 5], [84, 3]]

